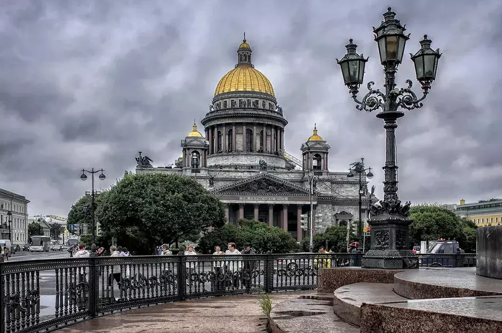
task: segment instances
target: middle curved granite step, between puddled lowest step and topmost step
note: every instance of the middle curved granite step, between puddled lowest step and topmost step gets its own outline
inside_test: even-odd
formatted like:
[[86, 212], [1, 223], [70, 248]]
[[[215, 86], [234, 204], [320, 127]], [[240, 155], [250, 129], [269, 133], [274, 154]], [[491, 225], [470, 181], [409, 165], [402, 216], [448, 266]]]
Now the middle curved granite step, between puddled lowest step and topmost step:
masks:
[[396, 294], [392, 283], [354, 283], [335, 290], [333, 311], [343, 320], [360, 326], [361, 304], [407, 300]]

